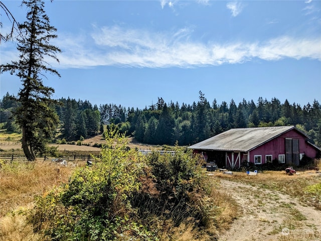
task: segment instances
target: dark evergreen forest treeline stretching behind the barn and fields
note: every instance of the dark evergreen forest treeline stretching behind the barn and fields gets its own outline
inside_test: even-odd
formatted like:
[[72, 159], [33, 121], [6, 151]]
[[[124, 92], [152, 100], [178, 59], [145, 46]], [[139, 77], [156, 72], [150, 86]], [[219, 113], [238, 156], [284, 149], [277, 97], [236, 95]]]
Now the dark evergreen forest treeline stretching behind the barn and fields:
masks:
[[[19, 105], [9, 93], [1, 99], [1, 123], [8, 132], [17, 130], [11, 112]], [[137, 141], [154, 145], [192, 145], [225, 132], [231, 128], [270, 127], [295, 125], [306, 133], [311, 141], [321, 146], [321, 105], [317, 100], [304, 106], [288, 100], [270, 101], [260, 97], [243, 99], [238, 104], [211, 103], [199, 92], [199, 100], [193, 104], [173, 101], [166, 103], [158, 97], [156, 104], [144, 109], [115, 104], [92, 105], [89, 101], [59, 99], [53, 106], [60, 118], [60, 138], [67, 141], [95, 136], [103, 132], [104, 125], [116, 125], [121, 133], [133, 136]]]

